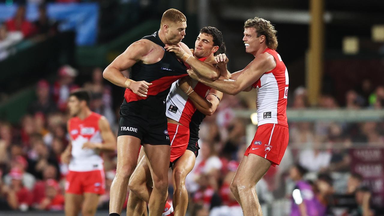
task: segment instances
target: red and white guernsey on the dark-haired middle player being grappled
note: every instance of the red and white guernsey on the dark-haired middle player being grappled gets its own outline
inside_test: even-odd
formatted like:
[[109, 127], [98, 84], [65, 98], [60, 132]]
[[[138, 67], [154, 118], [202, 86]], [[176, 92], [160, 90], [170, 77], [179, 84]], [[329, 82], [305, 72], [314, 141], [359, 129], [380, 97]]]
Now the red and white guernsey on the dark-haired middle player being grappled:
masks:
[[[207, 57], [199, 58], [205, 61]], [[179, 87], [179, 80], [172, 83], [169, 94], [167, 96], [167, 112], [168, 118], [171, 118], [180, 124], [189, 128], [192, 115], [196, 111], [195, 105]], [[191, 88], [201, 97], [205, 98], [211, 88], [196, 80], [191, 80]]]

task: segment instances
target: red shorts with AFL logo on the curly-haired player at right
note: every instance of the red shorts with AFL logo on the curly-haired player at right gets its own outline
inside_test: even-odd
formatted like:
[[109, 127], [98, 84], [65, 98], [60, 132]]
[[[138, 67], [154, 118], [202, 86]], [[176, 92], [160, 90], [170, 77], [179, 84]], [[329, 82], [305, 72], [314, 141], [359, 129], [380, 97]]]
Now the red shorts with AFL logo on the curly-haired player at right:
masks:
[[279, 165], [288, 140], [288, 127], [278, 124], [260, 125], [244, 155], [255, 154], [271, 161], [272, 166]]

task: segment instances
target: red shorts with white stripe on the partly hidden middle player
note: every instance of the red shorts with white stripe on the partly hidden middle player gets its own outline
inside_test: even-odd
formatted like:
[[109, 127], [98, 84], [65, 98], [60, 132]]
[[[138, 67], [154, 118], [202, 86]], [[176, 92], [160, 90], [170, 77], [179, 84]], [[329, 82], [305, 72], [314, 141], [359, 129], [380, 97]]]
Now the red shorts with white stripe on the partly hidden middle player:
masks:
[[189, 128], [183, 125], [168, 123], [168, 133], [170, 139], [170, 162], [174, 162], [187, 150]]

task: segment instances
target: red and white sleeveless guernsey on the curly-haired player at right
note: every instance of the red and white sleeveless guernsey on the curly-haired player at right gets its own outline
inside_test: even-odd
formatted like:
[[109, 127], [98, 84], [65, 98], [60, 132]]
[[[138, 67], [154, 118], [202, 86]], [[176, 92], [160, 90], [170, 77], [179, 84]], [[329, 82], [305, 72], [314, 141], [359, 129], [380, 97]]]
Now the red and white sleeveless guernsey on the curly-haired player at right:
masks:
[[286, 117], [288, 70], [275, 50], [266, 48], [263, 53], [265, 52], [273, 55], [276, 60], [276, 67], [264, 73], [252, 85], [257, 89], [258, 126], [271, 123], [288, 127]]

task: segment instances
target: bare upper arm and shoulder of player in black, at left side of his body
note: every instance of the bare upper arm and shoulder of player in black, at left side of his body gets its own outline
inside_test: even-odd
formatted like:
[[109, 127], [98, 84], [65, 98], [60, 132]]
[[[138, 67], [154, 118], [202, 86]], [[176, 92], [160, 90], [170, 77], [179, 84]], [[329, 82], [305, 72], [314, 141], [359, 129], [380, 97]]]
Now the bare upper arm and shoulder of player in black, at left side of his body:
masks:
[[119, 71], [131, 68], [137, 61], [142, 59], [142, 56], [149, 52], [149, 41], [142, 39], [132, 43], [123, 53], [121, 53], [109, 65]]

